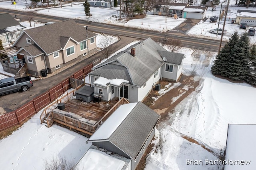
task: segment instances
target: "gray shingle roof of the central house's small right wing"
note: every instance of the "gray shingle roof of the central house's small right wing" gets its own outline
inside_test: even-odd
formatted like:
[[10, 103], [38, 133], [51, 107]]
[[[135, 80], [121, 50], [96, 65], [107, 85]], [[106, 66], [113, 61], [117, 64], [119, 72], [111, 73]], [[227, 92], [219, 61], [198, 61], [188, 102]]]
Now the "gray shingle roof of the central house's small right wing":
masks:
[[173, 52], [169, 52], [169, 51], [159, 51], [158, 53], [160, 54], [160, 56], [162, 58], [166, 58], [166, 63], [172, 63], [172, 64], [176, 64], [176, 65], [181, 65], [182, 63], [182, 59], [184, 58], [184, 54], [182, 53], [173, 53]]

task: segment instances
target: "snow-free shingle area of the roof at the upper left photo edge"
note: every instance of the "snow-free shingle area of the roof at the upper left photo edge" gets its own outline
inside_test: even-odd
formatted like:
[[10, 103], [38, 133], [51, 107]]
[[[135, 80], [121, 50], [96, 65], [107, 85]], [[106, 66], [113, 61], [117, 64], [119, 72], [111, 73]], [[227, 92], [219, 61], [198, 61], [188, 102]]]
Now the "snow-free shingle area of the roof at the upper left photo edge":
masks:
[[20, 25], [20, 23], [16, 21], [9, 13], [0, 14], [0, 21], [0, 34], [9, 32], [4, 29], [11, 26], [19, 26], [20, 28], [25, 28], [24, 26]]

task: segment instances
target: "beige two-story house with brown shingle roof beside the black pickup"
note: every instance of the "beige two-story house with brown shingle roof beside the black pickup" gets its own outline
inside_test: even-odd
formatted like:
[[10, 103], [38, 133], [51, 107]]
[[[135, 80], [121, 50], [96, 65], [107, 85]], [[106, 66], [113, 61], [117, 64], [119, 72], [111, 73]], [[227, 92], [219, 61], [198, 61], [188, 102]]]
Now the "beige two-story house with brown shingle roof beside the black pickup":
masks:
[[16, 53], [25, 59], [28, 73], [40, 76], [43, 69], [54, 73], [96, 53], [96, 36], [66, 20], [24, 30], [13, 47], [21, 48]]

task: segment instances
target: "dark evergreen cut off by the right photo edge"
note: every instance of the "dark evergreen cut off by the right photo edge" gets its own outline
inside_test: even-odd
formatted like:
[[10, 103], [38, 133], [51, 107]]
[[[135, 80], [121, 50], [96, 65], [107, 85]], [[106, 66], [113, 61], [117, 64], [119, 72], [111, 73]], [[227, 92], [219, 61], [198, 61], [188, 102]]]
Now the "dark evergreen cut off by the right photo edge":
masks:
[[252, 45], [251, 57], [249, 63], [249, 73], [246, 76], [246, 81], [251, 85], [256, 85], [256, 45]]

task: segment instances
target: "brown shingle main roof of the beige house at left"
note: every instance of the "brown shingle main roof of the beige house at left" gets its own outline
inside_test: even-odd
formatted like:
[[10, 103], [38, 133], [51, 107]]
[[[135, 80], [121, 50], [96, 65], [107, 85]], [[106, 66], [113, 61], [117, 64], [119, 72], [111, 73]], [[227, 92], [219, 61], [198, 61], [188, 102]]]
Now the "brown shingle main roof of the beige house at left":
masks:
[[53, 53], [66, 45], [68, 38], [82, 42], [96, 36], [93, 32], [78, 26], [74, 20], [66, 20], [41, 27], [24, 30], [36, 44], [46, 52]]

